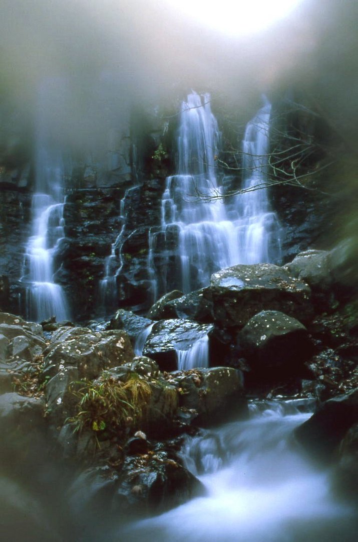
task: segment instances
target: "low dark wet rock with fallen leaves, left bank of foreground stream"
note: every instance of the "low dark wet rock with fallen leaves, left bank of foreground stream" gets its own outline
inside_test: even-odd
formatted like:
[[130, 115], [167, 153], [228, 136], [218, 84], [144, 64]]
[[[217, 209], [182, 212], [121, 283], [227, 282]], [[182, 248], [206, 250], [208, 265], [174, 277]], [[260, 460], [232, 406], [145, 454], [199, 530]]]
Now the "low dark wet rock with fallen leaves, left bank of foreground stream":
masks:
[[201, 482], [173, 453], [161, 449], [126, 457], [119, 472], [112, 467], [85, 470], [72, 484], [69, 499], [76, 517], [88, 518], [92, 512], [96, 518], [115, 513], [127, 519], [161, 513], [202, 494]]

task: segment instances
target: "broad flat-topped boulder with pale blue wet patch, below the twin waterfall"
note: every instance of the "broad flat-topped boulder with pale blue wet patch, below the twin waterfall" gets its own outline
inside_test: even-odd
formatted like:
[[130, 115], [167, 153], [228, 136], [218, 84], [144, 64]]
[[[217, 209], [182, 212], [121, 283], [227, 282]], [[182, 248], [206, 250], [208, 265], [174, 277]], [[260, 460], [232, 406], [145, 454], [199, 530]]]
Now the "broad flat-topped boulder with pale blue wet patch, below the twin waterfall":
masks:
[[262, 310], [282, 311], [302, 322], [313, 317], [307, 283], [271, 263], [222, 269], [211, 276], [204, 295], [221, 327], [243, 326]]

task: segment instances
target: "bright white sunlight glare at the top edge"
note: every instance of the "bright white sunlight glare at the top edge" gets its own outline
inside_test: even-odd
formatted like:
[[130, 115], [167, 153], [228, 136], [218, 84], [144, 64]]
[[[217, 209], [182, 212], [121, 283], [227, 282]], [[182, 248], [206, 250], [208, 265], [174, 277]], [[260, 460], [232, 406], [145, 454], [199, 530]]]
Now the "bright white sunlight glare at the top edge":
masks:
[[202, 25], [232, 37], [264, 30], [302, 3], [302, 0], [165, 1]]

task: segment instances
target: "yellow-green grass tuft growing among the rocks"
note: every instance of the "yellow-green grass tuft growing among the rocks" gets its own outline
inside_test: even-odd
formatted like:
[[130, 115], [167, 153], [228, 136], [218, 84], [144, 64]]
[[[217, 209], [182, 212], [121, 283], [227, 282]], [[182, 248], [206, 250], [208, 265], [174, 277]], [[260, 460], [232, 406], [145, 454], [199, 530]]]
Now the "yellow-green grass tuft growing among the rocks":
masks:
[[132, 373], [126, 382], [102, 375], [98, 380], [82, 380], [72, 393], [79, 398], [78, 412], [69, 421], [75, 430], [91, 429], [109, 436], [130, 433], [141, 427], [147, 416], [151, 395], [148, 382]]

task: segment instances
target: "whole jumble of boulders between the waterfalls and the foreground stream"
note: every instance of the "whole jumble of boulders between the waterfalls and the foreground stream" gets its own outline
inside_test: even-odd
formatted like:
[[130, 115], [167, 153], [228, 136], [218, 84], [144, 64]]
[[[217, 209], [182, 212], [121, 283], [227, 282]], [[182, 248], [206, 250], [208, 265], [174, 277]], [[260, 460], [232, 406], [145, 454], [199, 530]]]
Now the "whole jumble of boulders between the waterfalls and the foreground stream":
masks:
[[[307, 251], [283, 267], [223, 269], [207, 288], [165, 295], [148, 317], [120, 309], [105, 325], [75, 327], [1, 313], [0, 423], [11, 460], [22, 454], [19, 435], [38, 435], [49, 454], [77, 465], [71, 502], [87, 512], [157, 513], [203, 491], [177, 455], [183, 434], [245, 417], [247, 395], [291, 393], [319, 399], [296, 438], [336, 459], [343, 487], [357, 477], [358, 325], [347, 288], [332, 254]], [[209, 367], [178, 371], [177, 352], [206, 335]], [[140, 415], [129, 413], [121, 427], [96, 417], [79, 423], [85, 393], [104, 382], [139, 382]]]

